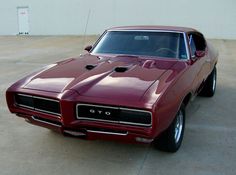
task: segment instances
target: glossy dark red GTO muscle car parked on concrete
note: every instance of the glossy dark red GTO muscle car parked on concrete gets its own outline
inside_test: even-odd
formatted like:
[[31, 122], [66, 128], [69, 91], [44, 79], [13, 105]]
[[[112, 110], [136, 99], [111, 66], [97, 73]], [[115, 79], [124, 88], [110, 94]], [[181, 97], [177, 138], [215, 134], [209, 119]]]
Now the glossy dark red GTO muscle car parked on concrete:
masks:
[[218, 53], [191, 28], [111, 28], [85, 50], [13, 84], [9, 110], [66, 135], [176, 152], [185, 107], [215, 93]]

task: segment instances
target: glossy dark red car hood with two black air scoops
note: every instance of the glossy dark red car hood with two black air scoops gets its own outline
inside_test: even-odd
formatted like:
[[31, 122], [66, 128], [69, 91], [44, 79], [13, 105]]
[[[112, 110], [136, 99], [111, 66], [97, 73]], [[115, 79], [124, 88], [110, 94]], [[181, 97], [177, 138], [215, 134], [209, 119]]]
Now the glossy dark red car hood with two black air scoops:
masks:
[[55, 93], [75, 90], [82, 96], [137, 101], [176, 62], [86, 54], [38, 73], [24, 88]]

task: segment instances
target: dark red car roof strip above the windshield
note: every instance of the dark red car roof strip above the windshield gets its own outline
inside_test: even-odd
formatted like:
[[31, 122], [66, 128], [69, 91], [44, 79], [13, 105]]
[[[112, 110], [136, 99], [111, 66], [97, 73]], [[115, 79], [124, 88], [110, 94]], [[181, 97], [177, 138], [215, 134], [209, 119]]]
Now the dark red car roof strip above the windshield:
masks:
[[109, 28], [108, 31], [112, 30], [166, 30], [176, 32], [197, 32], [197, 30], [188, 27], [177, 27], [177, 26], [120, 26]]

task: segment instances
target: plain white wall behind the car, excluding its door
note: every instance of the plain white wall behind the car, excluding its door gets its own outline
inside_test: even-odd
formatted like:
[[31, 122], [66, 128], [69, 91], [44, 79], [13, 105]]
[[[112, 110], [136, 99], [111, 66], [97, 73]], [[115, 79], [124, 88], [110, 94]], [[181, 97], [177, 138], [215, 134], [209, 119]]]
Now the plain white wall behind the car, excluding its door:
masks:
[[28, 6], [31, 35], [99, 34], [119, 25], [177, 25], [207, 38], [236, 39], [235, 0], [0, 0], [0, 35], [18, 33], [17, 7]]

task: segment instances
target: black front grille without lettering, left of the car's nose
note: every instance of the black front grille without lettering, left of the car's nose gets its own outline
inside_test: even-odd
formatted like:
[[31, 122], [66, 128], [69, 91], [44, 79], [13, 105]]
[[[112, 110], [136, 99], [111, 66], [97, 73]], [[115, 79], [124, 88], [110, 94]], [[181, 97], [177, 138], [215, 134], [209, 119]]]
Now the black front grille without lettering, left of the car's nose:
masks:
[[57, 100], [26, 94], [16, 94], [15, 102], [17, 106], [23, 108], [53, 115], [61, 115], [60, 103]]

